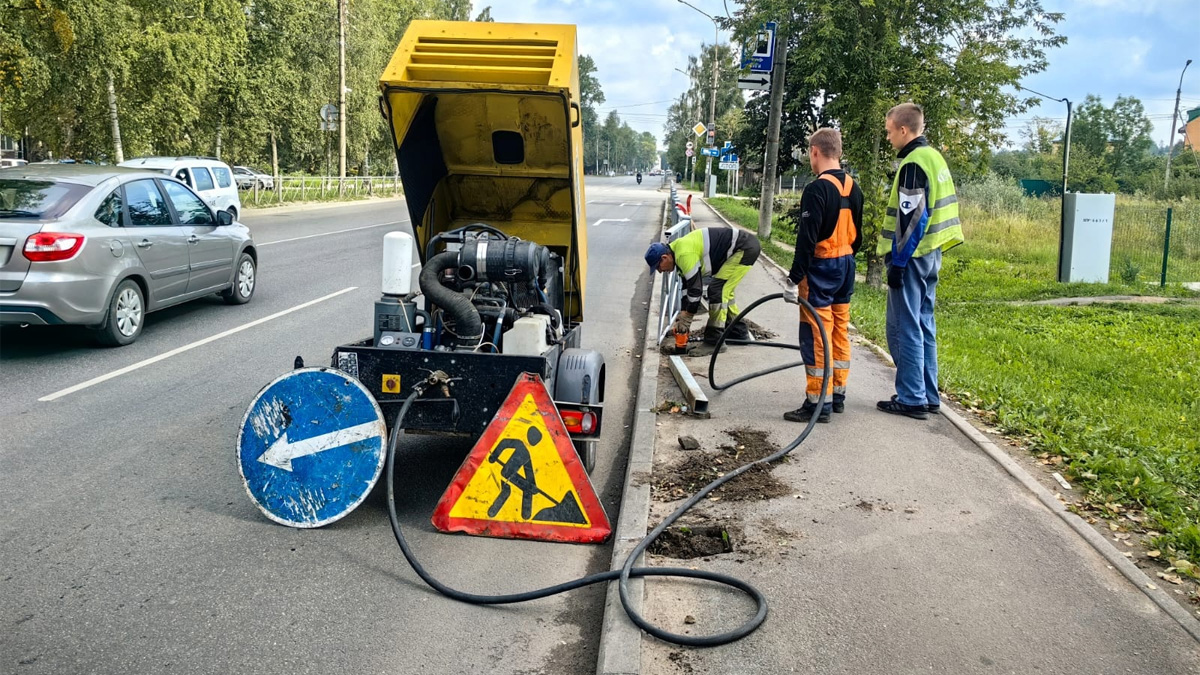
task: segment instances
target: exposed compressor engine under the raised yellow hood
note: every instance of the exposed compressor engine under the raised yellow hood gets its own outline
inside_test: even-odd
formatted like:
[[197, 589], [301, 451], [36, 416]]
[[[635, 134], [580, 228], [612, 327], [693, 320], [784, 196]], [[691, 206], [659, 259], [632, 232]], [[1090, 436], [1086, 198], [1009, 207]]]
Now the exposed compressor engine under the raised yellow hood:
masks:
[[425, 310], [410, 293], [413, 252], [407, 234], [384, 240], [377, 347], [540, 356], [563, 339], [562, 258], [546, 246], [484, 223], [434, 235], [419, 277]]

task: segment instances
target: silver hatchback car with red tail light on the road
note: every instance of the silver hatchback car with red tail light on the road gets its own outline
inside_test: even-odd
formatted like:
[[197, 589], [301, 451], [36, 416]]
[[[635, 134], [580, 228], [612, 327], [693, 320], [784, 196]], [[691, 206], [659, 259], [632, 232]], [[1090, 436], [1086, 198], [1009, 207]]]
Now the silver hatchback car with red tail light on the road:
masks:
[[0, 169], [0, 324], [77, 324], [106, 345], [145, 315], [212, 293], [248, 303], [250, 229], [157, 172], [85, 165]]

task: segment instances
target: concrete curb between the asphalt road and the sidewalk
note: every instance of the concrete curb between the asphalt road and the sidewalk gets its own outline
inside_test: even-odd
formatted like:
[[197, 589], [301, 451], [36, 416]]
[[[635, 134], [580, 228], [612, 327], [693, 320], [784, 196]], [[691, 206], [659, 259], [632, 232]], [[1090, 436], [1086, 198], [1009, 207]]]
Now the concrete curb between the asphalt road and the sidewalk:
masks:
[[[667, 222], [667, 203], [662, 204], [662, 227]], [[622, 488], [620, 516], [613, 536], [612, 563], [618, 569], [632, 552], [637, 543], [646, 538], [650, 519], [650, 472], [654, 468], [654, 442], [656, 414], [652, 412], [659, 396], [659, 342], [658, 323], [662, 297], [662, 275], [654, 275], [650, 286], [646, 330], [642, 340], [642, 375], [637, 386], [637, 402], [634, 408], [634, 432], [629, 440], [629, 465]], [[638, 560], [637, 565], [644, 565]], [[630, 580], [634, 609], [642, 610], [644, 583]], [[600, 626], [600, 653], [596, 658], [596, 675], [636, 675], [642, 671], [642, 629], [634, 625], [620, 604], [616, 584], [608, 584], [604, 603], [604, 620]]]

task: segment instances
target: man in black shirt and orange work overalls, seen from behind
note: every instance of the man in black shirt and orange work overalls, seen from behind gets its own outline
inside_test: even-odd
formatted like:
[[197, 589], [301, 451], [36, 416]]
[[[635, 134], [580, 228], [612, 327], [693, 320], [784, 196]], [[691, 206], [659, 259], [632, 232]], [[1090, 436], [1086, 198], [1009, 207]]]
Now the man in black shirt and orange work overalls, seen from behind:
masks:
[[799, 304], [804, 298], [816, 310], [829, 334], [832, 376], [826, 400], [817, 411], [824, 381], [821, 327], [800, 310], [800, 353], [806, 375], [805, 401], [784, 413], [788, 422], [829, 422], [830, 412], [842, 412], [850, 380], [850, 297], [854, 293], [854, 255], [863, 244], [863, 191], [841, 169], [841, 133], [818, 129], [809, 137], [809, 165], [817, 179], [804, 187], [800, 204], [788, 214], [796, 225], [796, 257], [784, 286], [784, 299]]

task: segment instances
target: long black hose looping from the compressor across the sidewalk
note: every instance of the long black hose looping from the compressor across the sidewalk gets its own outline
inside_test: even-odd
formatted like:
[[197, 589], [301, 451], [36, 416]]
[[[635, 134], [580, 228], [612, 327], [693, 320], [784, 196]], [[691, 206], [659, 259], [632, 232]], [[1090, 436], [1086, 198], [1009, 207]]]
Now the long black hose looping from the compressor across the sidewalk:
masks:
[[[761, 300], [755, 301], [744, 311], [742, 311], [742, 313], [738, 315], [738, 318], [740, 319], [742, 317], [748, 315], [750, 310], [757, 307], [764, 301], [773, 300], [776, 298], [782, 298], [782, 294], [776, 293], [774, 295], [768, 295], [766, 298], [762, 298]], [[809, 303], [806, 303], [803, 298], [800, 299], [800, 303], [804, 305], [805, 310], [808, 310], [816, 318], [817, 327], [821, 329], [821, 336], [824, 340], [823, 344], [828, 344], [828, 334], [826, 333], [824, 323], [822, 323], [820, 315], [817, 315], [816, 311], [812, 309], [812, 306]], [[732, 327], [733, 323], [734, 322], [730, 322], [728, 325]], [[725, 333], [722, 333], [721, 338], [718, 340], [718, 351], [713, 353], [713, 359], [712, 362], [709, 362], [709, 375], [712, 375], [712, 366], [713, 364], [716, 363], [716, 354], [720, 353], [720, 345], [725, 344], [726, 341], [725, 338], [727, 333], [728, 328], [726, 328]], [[785, 345], [785, 346], [792, 347], [791, 345]], [[792, 366], [788, 365], [787, 368]], [[774, 372], [778, 370], [782, 369], [774, 369], [769, 372]], [[762, 375], [764, 374], [766, 371]], [[818, 408], [824, 405], [826, 384], [828, 384], [830, 375], [832, 375], [832, 369], [829, 363], [829, 350], [826, 350], [824, 378], [821, 382], [821, 396], [817, 400]], [[745, 381], [745, 378], [743, 378], [742, 381]], [[732, 386], [733, 386], [732, 383], [726, 384], [725, 388], [730, 388]], [[400, 444], [400, 435], [403, 430], [404, 416], [408, 414], [408, 408], [412, 407], [413, 401], [416, 400], [416, 396], [419, 394], [420, 390], [414, 389], [414, 392], [409, 394], [407, 399], [404, 399], [404, 405], [401, 406], [400, 412], [396, 414], [396, 422], [392, 426], [392, 432], [388, 438], [388, 460], [386, 464], [384, 465], [384, 471], [386, 473], [385, 484], [388, 486], [388, 520], [391, 522], [391, 533], [396, 537], [396, 543], [400, 544], [400, 550], [404, 554], [404, 558], [408, 560], [408, 565], [413, 567], [413, 572], [415, 572], [416, 575], [420, 577], [422, 581], [428, 584], [437, 592], [442, 593], [443, 596], [446, 596], [448, 598], [464, 602], [468, 604], [481, 604], [481, 605], [511, 604], [511, 603], [528, 602], [538, 598], [545, 598], [565, 591], [581, 589], [583, 586], [590, 586], [592, 584], [599, 584], [601, 581], [612, 581], [616, 579], [618, 581], [617, 587], [620, 595], [620, 604], [622, 607], [624, 607], [625, 614], [629, 615], [629, 619], [635, 625], [637, 625], [646, 633], [660, 640], [674, 643], [678, 645], [689, 645], [697, 647], [718, 646], [736, 640], [740, 640], [742, 638], [749, 635], [755, 629], [757, 629], [758, 626], [761, 626], [762, 622], [767, 620], [767, 597], [762, 595], [762, 591], [754, 587], [748, 581], [743, 581], [742, 579], [731, 577], [728, 574], [721, 574], [718, 572], [704, 572], [702, 569], [689, 569], [684, 567], [634, 567], [634, 562], [637, 560], [638, 556], [646, 552], [646, 549], [649, 548], [649, 545], [654, 543], [654, 540], [658, 539], [659, 536], [661, 536], [667, 527], [673, 525], [684, 513], [686, 513], [689, 509], [700, 503], [700, 501], [703, 500], [706, 496], [708, 496], [710, 492], [713, 492], [713, 490], [716, 490], [725, 483], [728, 483], [730, 480], [737, 478], [738, 476], [742, 476], [743, 473], [750, 471], [757, 465], [764, 465], [778, 461], [782, 459], [784, 455], [799, 447], [799, 444], [803, 443], [804, 440], [809, 437], [809, 434], [816, 425], [818, 416], [814, 414], [811, 419], [809, 419], [809, 424], [804, 428], [800, 435], [797, 436], [796, 440], [788, 443], [787, 447], [785, 447], [784, 449], [776, 452], [770, 456], [766, 456], [758, 461], [740, 466], [737, 470], [726, 473], [725, 476], [718, 478], [716, 480], [713, 480], [712, 483], [702, 488], [698, 492], [688, 498], [688, 501], [680, 504], [679, 508], [677, 508], [671, 515], [666, 516], [662, 520], [662, 522], [658, 525], [658, 527], [652, 530], [637, 544], [637, 546], [629, 554], [629, 557], [625, 558], [625, 563], [622, 565], [620, 569], [610, 569], [608, 572], [589, 574], [580, 579], [564, 581], [562, 584], [547, 586], [545, 589], [538, 589], [534, 591], [526, 591], [521, 593], [506, 593], [502, 596], [486, 596], [479, 593], [468, 593], [464, 591], [460, 591], [457, 589], [451, 589], [450, 586], [446, 586], [445, 584], [434, 579], [433, 575], [431, 575], [425, 569], [425, 567], [416, 560], [416, 556], [409, 548], [408, 540], [404, 539], [404, 533], [401, 530], [400, 516], [396, 514], [396, 489], [395, 489], [396, 447]], [[718, 584], [724, 584], [726, 586], [731, 586], [733, 589], [743, 591], [744, 593], [750, 596], [757, 609], [755, 611], [755, 615], [750, 617], [750, 620], [748, 620], [738, 628], [728, 631], [726, 633], [719, 633], [715, 635], [682, 635], [679, 633], [672, 633], [670, 631], [664, 631], [662, 628], [654, 626], [634, 609], [632, 599], [630, 598], [629, 595], [629, 580], [632, 578], [641, 578], [641, 577], [674, 577], [674, 578], [703, 579], [707, 581], [715, 581]]]

